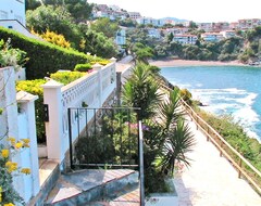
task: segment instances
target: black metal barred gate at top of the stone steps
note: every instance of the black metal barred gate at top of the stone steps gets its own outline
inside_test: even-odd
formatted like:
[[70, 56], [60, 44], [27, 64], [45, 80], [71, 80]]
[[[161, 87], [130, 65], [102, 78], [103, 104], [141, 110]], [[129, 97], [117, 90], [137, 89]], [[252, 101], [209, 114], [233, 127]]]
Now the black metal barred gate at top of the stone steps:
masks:
[[72, 169], [139, 166], [138, 108], [69, 108]]

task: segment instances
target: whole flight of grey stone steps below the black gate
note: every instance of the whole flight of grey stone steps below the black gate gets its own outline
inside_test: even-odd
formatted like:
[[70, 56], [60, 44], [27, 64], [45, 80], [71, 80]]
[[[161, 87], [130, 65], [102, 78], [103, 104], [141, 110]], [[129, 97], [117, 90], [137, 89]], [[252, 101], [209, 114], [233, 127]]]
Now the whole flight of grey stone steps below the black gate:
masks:
[[45, 205], [140, 205], [138, 172], [87, 169], [61, 175]]

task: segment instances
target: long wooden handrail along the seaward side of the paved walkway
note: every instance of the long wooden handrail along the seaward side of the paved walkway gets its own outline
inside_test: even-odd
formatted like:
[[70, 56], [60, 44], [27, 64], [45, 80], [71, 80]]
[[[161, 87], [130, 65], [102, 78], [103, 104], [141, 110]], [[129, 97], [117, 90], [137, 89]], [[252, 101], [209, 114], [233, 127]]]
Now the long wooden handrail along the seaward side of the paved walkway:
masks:
[[[169, 87], [161, 85], [164, 89], [171, 90]], [[192, 118], [195, 124], [197, 125], [197, 128], [199, 127], [204, 134], [207, 136], [207, 139], [211, 139], [212, 143], [220, 150], [221, 156], [224, 155], [233, 165], [238, 169], [238, 178], [241, 177], [241, 175], [257, 189], [258, 193], [261, 194], [261, 188], [258, 185], [258, 183], [247, 173], [246, 170], [243, 168], [243, 163], [245, 163], [259, 178], [261, 178], [261, 172], [251, 164], [249, 163], [240, 153], [238, 153], [223, 137], [219, 134], [208, 123], [206, 123], [192, 108], [189, 106], [182, 98], [182, 104], [185, 107], [186, 112], [189, 114], [189, 116]], [[206, 130], [207, 128], [207, 130]], [[212, 132], [212, 134], [211, 134]], [[217, 138], [221, 142], [219, 143], [215, 138]], [[222, 146], [226, 145], [238, 158], [239, 163], [237, 163]]]

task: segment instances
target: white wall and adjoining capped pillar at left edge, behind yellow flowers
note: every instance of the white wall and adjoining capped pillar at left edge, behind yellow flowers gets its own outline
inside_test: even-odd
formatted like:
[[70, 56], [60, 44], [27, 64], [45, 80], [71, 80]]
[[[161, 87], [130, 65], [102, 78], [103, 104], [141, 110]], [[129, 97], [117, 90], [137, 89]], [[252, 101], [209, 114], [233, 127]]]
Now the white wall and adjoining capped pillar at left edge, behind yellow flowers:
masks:
[[[27, 167], [32, 170], [28, 176], [14, 177], [14, 188], [25, 202], [28, 202], [32, 196], [39, 192], [34, 104], [36, 99], [37, 96], [26, 92], [16, 94], [13, 67], [0, 68], [0, 107], [4, 108], [2, 115], [0, 115], [0, 143], [7, 145], [8, 137], [13, 137], [17, 141], [21, 139], [30, 140], [29, 149], [23, 149], [11, 155], [12, 160], [18, 163], [18, 167]], [[16, 100], [21, 106], [20, 114], [17, 113]], [[13, 153], [12, 150], [11, 153]]]

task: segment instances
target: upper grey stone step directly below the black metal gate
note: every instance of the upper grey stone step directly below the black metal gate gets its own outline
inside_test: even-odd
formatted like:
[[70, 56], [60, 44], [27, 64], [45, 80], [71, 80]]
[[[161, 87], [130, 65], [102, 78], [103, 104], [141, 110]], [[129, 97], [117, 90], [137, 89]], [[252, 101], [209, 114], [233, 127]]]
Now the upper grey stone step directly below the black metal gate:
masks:
[[61, 175], [45, 205], [89, 205], [135, 184], [138, 172], [129, 169], [87, 169]]

